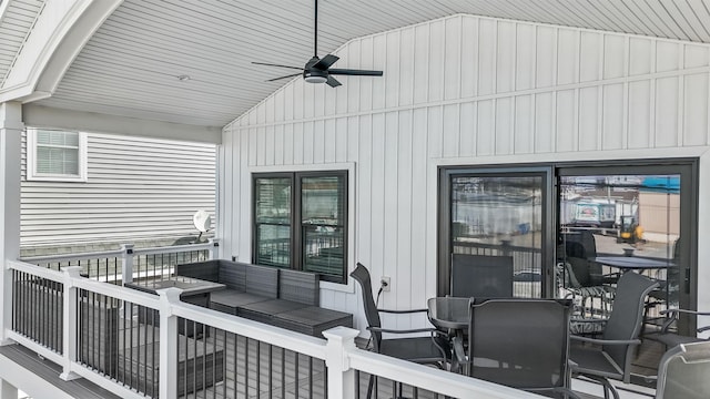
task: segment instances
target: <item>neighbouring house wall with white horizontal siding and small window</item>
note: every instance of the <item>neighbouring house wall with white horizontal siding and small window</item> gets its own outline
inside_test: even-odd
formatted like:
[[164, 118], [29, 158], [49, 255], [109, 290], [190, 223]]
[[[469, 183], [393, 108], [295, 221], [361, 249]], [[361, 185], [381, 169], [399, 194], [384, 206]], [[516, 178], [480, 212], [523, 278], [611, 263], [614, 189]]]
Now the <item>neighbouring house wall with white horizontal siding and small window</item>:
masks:
[[196, 238], [197, 209], [214, 215], [214, 144], [38, 127], [23, 139], [23, 256], [171, 245]]

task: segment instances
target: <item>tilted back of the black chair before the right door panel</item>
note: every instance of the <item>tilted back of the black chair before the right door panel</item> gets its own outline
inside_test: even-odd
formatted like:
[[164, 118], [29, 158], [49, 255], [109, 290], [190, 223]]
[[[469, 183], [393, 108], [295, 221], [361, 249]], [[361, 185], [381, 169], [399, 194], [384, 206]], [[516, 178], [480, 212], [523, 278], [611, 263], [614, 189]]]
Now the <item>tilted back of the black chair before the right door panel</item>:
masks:
[[[611, 315], [606, 323], [602, 339], [637, 339], [643, 321], [646, 296], [658, 286], [657, 282], [638, 273], [625, 273], [617, 284], [616, 296], [611, 305]], [[625, 376], [629, 374], [627, 361], [630, 361], [631, 348], [631, 345], [604, 346], [604, 351], [625, 370]]]

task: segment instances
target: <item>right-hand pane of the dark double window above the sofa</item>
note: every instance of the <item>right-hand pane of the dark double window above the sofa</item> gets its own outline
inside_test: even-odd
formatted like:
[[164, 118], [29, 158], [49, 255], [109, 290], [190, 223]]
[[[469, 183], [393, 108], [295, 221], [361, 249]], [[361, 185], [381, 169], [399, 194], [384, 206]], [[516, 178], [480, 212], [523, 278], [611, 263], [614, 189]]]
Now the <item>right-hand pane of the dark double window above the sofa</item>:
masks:
[[343, 278], [345, 269], [345, 177], [301, 180], [303, 268]]

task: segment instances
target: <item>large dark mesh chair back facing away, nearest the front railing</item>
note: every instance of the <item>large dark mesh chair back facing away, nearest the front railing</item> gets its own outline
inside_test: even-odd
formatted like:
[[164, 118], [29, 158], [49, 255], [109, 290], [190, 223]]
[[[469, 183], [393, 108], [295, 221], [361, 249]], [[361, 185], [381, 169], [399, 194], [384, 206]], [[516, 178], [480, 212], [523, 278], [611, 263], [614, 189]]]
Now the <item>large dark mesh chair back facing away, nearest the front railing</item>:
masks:
[[527, 390], [568, 388], [570, 299], [470, 305], [471, 377]]

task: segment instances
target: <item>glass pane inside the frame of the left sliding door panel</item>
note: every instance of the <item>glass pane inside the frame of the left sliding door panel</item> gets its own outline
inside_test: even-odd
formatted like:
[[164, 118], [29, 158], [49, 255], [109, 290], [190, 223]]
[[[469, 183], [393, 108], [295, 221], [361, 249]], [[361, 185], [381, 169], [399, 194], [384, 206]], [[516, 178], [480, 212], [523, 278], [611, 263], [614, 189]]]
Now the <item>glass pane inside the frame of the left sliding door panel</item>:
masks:
[[510, 256], [513, 294], [541, 294], [542, 176], [453, 176], [454, 254]]

